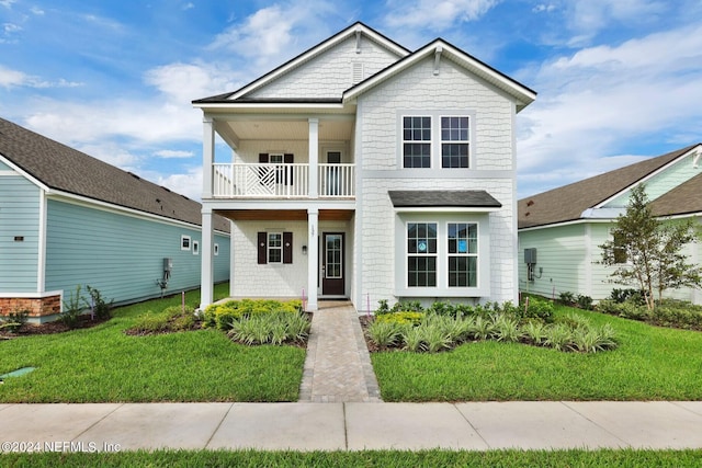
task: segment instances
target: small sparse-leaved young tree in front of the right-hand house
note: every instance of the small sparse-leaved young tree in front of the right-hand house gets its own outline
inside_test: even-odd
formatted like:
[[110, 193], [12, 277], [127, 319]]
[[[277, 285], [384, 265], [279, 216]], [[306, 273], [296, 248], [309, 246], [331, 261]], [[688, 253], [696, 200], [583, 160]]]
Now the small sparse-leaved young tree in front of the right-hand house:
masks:
[[626, 213], [616, 218], [612, 239], [600, 246], [601, 263], [616, 267], [610, 275], [614, 282], [638, 285], [648, 310], [655, 306], [654, 292], [660, 300], [666, 289], [702, 286], [702, 269], [688, 263], [681, 253], [684, 246], [698, 239], [694, 222], [655, 218], [643, 184], [632, 190]]

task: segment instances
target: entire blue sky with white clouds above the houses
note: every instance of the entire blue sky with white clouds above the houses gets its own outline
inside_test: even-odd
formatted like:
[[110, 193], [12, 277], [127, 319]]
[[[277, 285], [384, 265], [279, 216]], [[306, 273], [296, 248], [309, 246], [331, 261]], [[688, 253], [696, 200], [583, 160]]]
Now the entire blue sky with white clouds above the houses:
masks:
[[362, 21], [539, 93], [524, 197], [702, 140], [699, 0], [0, 0], [0, 116], [200, 199], [202, 113]]

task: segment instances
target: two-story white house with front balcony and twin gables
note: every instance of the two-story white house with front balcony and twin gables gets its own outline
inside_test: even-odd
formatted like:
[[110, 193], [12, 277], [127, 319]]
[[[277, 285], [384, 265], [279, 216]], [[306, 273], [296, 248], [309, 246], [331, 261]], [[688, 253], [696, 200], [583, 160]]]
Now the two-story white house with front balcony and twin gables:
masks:
[[[233, 297], [517, 300], [514, 118], [535, 92], [443, 39], [355, 23], [201, 100], [203, 231], [233, 221]], [[215, 135], [231, 148], [215, 155]], [[203, 235], [202, 306], [212, 301]]]

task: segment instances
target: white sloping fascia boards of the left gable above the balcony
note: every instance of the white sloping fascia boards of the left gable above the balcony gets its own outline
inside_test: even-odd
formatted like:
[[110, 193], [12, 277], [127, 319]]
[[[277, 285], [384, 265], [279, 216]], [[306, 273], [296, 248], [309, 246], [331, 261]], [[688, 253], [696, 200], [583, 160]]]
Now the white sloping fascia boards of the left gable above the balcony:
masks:
[[230, 100], [236, 100], [238, 98], [241, 98], [242, 95], [246, 95], [261, 87], [264, 87], [265, 84], [270, 83], [271, 81], [282, 77], [283, 75], [287, 73], [288, 71], [299, 67], [302, 64], [304, 64], [305, 61], [308, 61], [313, 58], [315, 58], [316, 56], [322, 54], [325, 50], [328, 50], [332, 47], [335, 47], [337, 44], [342, 43], [343, 41], [346, 41], [347, 38], [354, 36], [356, 34], [356, 32], [360, 32], [362, 34], [365, 34], [366, 36], [371, 37], [374, 42], [383, 45], [384, 47], [386, 47], [387, 49], [394, 52], [395, 54], [399, 55], [400, 57], [404, 57], [408, 54], [407, 50], [405, 50], [404, 48], [401, 48], [400, 46], [398, 46], [397, 44], [394, 44], [393, 42], [387, 41], [385, 37], [376, 34], [374, 31], [365, 27], [363, 24], [355, 24], [352, 27], [347, 28], [346, 31], [341, 31], [340, 33], [331, 36], [330, 38], [328, 38], [327, 41], [318, 44], [317, 46], [308, 49], [307, 52], [303, 53], [302, 55], [297, 56], [296, 58], [293, 58], [291, 61], [282, 65], [281, 67], [270, 71], [268, 75], [264, 75], [263, 77], [259, 78], [258, 80], [249, 83], [248, 85], [239, 89], [238, 91], [236, 91], [234, 94], [231, 94], [229, 96]]

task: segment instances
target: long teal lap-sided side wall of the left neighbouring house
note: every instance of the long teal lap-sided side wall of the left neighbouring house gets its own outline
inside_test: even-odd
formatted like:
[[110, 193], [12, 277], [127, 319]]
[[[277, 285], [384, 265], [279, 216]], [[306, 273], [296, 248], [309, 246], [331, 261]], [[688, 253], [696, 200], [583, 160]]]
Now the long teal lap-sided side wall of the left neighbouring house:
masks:
[[[173, 260], [167, 293], [197, 287], [201, 255], [193, 254], [192, 247], [181, 250], [181, 236], [202, 248], [200, 229], [49, 201], [46, 288], [69, 292], [89, 284], [117, 303], [158, 296], [163, 258]], [[228, 239], [215, 242], [215, 277], [224, 281]]]

